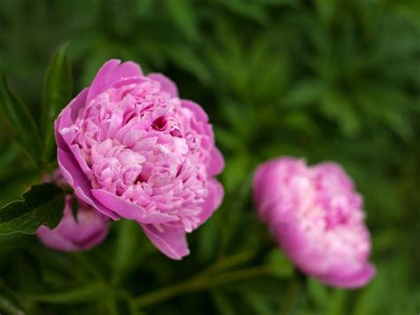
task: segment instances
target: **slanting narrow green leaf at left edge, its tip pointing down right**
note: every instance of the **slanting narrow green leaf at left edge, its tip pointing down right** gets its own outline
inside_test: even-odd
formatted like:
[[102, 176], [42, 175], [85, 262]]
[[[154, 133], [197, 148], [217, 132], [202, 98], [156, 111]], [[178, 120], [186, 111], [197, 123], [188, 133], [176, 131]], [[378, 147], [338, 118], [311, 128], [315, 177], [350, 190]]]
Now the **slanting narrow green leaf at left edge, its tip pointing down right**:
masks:
[[25, 103], [12, 91], [7, 79], [2, 75], [0, 83], [0, 106], [16, 133], [19, 146], [28, 157], [39, 166], [43, 141], [35, 120]]

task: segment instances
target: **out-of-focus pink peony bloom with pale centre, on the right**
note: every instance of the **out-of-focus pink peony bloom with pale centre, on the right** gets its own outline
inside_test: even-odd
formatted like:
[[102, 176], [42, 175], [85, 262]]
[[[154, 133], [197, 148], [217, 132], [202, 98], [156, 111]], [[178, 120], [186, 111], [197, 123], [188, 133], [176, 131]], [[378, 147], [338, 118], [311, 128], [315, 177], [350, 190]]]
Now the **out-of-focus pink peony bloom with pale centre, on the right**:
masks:
[[302, 272], [335, 287], [372, 279], [362, 197], [338, 164], [268, 161], [256, 170], [253, 194], [261, 219]]

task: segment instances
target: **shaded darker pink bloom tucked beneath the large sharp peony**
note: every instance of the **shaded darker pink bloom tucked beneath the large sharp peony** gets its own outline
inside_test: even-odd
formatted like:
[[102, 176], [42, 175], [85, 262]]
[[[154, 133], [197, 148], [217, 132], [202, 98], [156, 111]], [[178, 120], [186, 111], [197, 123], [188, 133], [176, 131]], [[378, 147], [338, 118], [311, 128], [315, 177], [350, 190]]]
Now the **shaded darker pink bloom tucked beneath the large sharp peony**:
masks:
[[[64, 178], [56, 171], [52, 178], [45, 178], [47, 182], [65, 185]], [[78, 251], [93, 248], [101, 243], [108, 234], [109, 219], [97, 212], [83, 201], [79, 201], [77, 222], [72, 214], [72, 196], [66, 196], [63, 218], [57, 228], [50, 230], [41, 226], [36, 235], [43, 243], [51, 248], [63, 251]]]

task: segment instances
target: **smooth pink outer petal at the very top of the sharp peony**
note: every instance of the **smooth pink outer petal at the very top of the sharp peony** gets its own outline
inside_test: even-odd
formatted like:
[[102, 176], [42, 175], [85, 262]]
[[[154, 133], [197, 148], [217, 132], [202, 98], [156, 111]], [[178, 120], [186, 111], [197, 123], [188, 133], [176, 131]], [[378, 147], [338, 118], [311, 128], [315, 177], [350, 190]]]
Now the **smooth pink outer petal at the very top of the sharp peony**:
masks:
[[142, 69], [136, 63], [128, 61], [121, 64], [121, 60], [111, 59], [105, 62], [105, 65], [97, 72], [95, 79], [93, 79], [93, 82], [90, 85], [86, 102], [89, 103], [90, 100], [105, 91], [109, 85], [122, 78], [142, 75]]

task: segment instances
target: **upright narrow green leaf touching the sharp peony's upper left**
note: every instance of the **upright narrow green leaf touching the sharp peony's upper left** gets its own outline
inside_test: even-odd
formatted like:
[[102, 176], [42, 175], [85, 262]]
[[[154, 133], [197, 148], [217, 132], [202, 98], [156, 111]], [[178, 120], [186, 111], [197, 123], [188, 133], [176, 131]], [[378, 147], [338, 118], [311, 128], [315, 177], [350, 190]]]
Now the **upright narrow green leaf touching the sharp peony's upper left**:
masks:
[[54, 120], [72, 96], [72, 69], [67, 48], [68, 43], [64, 43], [55, 52], [43, 82], [41, 126], [45, 139], [43, 158], [46, 161], [54, 147]]

